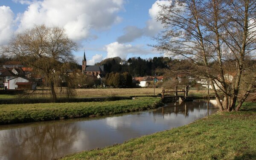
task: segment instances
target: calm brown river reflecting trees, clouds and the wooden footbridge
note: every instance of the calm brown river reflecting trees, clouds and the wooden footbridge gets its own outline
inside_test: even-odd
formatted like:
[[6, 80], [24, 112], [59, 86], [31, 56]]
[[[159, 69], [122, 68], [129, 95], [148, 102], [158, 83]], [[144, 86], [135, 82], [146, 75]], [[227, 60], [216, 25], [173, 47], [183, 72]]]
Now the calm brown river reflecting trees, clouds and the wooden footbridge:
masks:
[[214, 100], [101, 118], [0, 125], [0, 160], [51, 160], [186, 125], [215, 113]]

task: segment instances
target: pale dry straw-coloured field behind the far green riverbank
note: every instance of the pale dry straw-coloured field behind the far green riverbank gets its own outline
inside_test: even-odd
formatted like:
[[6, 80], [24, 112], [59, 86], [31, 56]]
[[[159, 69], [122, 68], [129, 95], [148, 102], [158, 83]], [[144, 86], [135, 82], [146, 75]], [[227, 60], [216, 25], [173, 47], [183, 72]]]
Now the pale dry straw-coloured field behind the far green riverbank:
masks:
[[[162, 93], [162, 88], [155, 89], [155, 95]], [[166, 90], [168, 91], [168, 90]], [[110, 96], [153, 96], [154, 88], [91, 88], [91, 89], [75, 89], [75, 97], [110, 97]], [[50, 90], [35, 90], [27, 91], [25, 95], [0, 95], [0, 99], [9, 98], [50, 98]], [[29, 94], [30, 93], [30, 94]], [[174, 93], [171, 93], [174, 95]], [[183, 93], [179, 93], [180, 95]], [[210, 94], [212, 91], [210, 90]], [[189, 91], [190, 96], [205, 96], [207, 89], [191, 88]], [[58, 91], [58, 97], [64, 97], [64, 93]]]

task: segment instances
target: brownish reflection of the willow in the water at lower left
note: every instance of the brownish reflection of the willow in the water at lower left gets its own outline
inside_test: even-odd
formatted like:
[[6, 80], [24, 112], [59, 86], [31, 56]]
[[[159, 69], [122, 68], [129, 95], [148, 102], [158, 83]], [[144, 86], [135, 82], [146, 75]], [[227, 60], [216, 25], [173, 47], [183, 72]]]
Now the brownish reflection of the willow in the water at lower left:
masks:
[[79, 129], [73, 123], [7, 130], [0, 133], [1, 137], [5, 137], [0, 140], [0, 146], [5, 146], [1, 147], [0, 154], [19, 160], [47, 160], [64, 156], [73, 146], [78, 133]]

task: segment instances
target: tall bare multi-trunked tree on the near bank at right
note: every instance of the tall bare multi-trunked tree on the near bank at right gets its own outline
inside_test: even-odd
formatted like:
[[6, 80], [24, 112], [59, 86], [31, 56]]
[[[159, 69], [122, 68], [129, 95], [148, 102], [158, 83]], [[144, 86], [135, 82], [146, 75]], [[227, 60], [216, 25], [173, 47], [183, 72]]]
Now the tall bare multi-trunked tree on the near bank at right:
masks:
[[160, 7], [165, 30], [153, 47], [189, 61], [193, 75], [209, 81], [220, 111], [238, 111], [256, 78], [256, 1], [170, 0]]

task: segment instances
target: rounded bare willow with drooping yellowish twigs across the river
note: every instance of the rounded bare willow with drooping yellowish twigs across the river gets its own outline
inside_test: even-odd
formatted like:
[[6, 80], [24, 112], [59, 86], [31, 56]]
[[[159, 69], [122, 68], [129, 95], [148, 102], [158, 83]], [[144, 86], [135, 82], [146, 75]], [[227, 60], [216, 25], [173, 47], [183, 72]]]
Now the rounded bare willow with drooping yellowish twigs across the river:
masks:
[[[52, 100], [56, 102], [56, 87], [61, 81], [71, 84], [68, 74], [70, 63], [74, 62], [72, 51], [76, 43], [70, 40], [64, 29], [59, 27], [35, 26], [15, 35], [3, 51], [18, 57], [33, 73], [43, 76], [45, 83], [50, 86]], [[67, 87], [67, 95], [72, 90]]]

